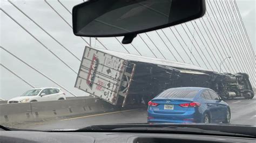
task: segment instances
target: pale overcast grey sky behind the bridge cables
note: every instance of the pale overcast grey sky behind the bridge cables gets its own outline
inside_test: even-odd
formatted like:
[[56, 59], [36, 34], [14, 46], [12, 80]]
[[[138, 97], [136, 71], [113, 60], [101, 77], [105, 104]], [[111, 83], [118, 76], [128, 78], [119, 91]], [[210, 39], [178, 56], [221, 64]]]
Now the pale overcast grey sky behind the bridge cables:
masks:
[[[48, 32], [52, 37], [58, 40], [63, 46], [69, 49], [78, 59], [82, 58], [84, 47], [87, 45], [86, 42], [80, 38], [76, 37], [72, 33], [72, 28], [69, 25], [72, 25], [72, 17], [71, 14], [58, 2], [49, 0], [47, 1], [68, 23], [65, 23], [62, 18], [60, 18], [55, 11], [51, 9], [51, 7], [42, 0], [19, 0], [19, 1], [11, 1], [13, 2], [19, 9], [21, 9], [26, 15], [31, 17], [37, 24], [39, 24], [43, 29]], [[72, 7], [76, 4], [82, 3], [80, 1], [60, 1], [66, 8], [71, 11]], [[214, 2], [211, 1], [214, 5]], [[219, 2], [219, 1], [217, 1]], [[223, 1], [226, 4], [233, 1]], [[209, 4], [209, 3], [208, 3]], [[252, 48], [254, 53], [255, 49], [255, 1], [237, 1], [237, 5], [242, 17], [242, 22], [245, 25], [246, 31], [248, 33], [248, 37], [251, 41]], [[206, 5], [206, 7], [211, 7], [210, 5]], [[157, 58], [178, 62], [186, 62], [190, 64], [194, 64], [196, 66], [200, 66], [205, 69], [210, 69], [213, 71], [218, 71], [218, 64], [225, 58], [225, 56], [232, 56], [230, 61], [226, 61], [224, 63], [223, 71], [235, 73], [235, 71], [239, 72], [248, 72], [251, 76], [254, 76], [255, 79], [255, 54], [252, 55], [252, 51], [250, 49], [245, 49], [242, 55], [240, 55], [241, 59], [237, 54], [241, 53], [241, 51], [234, 51], [232, 47], [232, 42], [239, 44], [239, 39], [235, 39], [234, 35], [238, 35], [239, 31], [230, 30], [228, 32], [221, 32], [222, 28], [226, 27], [225, 24], [232, 24], [228, 22], [228, 20], [224, 23], [217, 23], [218, 18], [221, 16], [216, 15], [217, 19], [213, 19], [212, 11], [218, 12], [218, 10], [224, 12], [224, 9], [218, 9], [216, 6], [212, 6], [212, 9], [207, 9], [206, 15], [203, 17], [204, 22], [206, 22], [206, 27], [209, 27], [209, 32], [212, 34], [207, 34], [203, 30], [204, 25], [201, 24], [199, 19], [188, 22], [186, 24], [177, 25], [170, 28], [164, 28], [163, 31], [159, 30], [158, 33], [160, 37], [163, 38], [163, 41], [157, 36], [156, 31], [148, 32], [147, 35], [154, 41], [154, 44], [159, 48], [159, 51], [156, 47], [154, 47], [153, 42], [147, 37], [146, 34], [140, 34], [140, 36], [144, 39], [147, 45], [144, 44], [141, 38], [135, 38], [132, 42], [133, 46], [137, 48], [138, 52], [132, 45], [124, 45], [125, 48], [131, 54], [142, 54], [143, 56], [154, 57], [152, 52], [156, 54]], [[80, 91], [74, 88], [76, 81], [76, 74], [72, 71], [75, 70], [78, 72], [80, 61], [73, 55], [71, 55], [68, 51], [66, 51], [62, 46], [60, 46], [55, 40], [49, 37], [44, 31], [41, 30], [37, 25], [33, 24], [28, 18], [26, 18], [23, 13], [18, 11], [13, 5], [11, 5], [8, 1], [1, 0], [1, 9], [3, 9], [8, 15], [14, 18], [21, 26], [23, 26], [29, 33], [36, 37], [44, 46], [42, 46], [37, 40], [35, 40], [28, 32], [23, 30], [21, 26], [14, 22], [10, 17], [8, 17], [3, 11], [1, 11], [1, 34], [0, 34], [0, 45], [7, 49], [12, 54], [15, 54], [25, 62], [28, 62], [33, 68], [44, 73], [46, 76], [56, 81], [58, 84], [63, 87], [69, 89], [74, 92], [77, 96], [87, 96], [88, 94], [84, 91]], [[231, 16], [231, 15], [230, 15]], [[207, 21], [207, 17], [210, 17], [212, 23]], [[201, 19], [202, 20], [202, 19]], [[236, 21], [238, 22], [238, 21]], [[198, 27], [193, 27], [193, 24], [198, 24]], [[220, 34], [215, 37], [213, 35], [214, 29], [211, 29], [211, 24], [214, 25], [217, 29], [215, 32]], [[172, 30], [172, 31], [171, 31]], [[205, 41], [200, 42], [200, 33], [197, 33], [199, 30], [205, 35]], [[186, 32], [191, 32], [186, 35]], [[181, 44], [176, 39], [176, 36], [181, 41], [184, 40]], [[207, 36], [206, 36], [207, 35]], [[208, 38], [207, 37], [211, 37]], [[225, 45], [221, 42], [224, 42], [223, 39], [234, 38], [228, 41], [228, 44]], [[86, 41], [89, 41], [89, 38], [84, 38]], [[122, 37], [117, 37], [119, 41], [122, 40]], [[124, 52], [127, 51], [125, 48], [120, 45], [117, 39], [114, 38], [99, 38], [99, 40], [110, 50]], [[192, 40], [191, 40], [192, 39]], [[217, 44], [211, 44], [212, 41], [217, 42]], [[167, 45], [167, 47], [166, 47]], [[172, 46], [173, 45], [173, 46]], [[195, 46], [193, 46], [195, 45]], [[208, 46], [209, 45], [209, 46]], [[104, 48], [99, 44], [94, 38], [92, 38], [92, 47]], [[147, 47], [149, 46], [152, 52]], [[196, 48], [196, 47], [200, 47]], [[230, 46], [230, 47], [229, 47]], [[234, 45], [236, 46], [236, 45]], [[242, 46], [242, 45], [241, 45]], [[175, 48], [174, 48], [175, 47]], [[183, 49], [185, 47], [185, 49]], [[218, 47], [214, 49], [214, 47]], [[238, 46], [237, 46], [238, 47]], [[169, 49], [168, 49], [169, 48]], [[209, 50], [212, 50], [209, 53]], [[242, 49], [241, 49], [242, 50]], [[69, 67], [65, 66], [63, 62], [58, 60], [62, 59]], [[170, 53], [172, 52], [174, 56]], [[178, 54], [180, 56], [178, 56]], [[203, 57], [201, 57], [204, 55]], [[249, 57], [248, 55], [252, 55]], [[26, 82], [29, 82], [33, 87], [58, 87], [55, 83], [51, 82], [47, 78], [38, 74], [35, 70], [29, 68], [24, 65], [21, 61], [15, 59], [13, 56], [8, 54], [7, 52], [0, 49], [1, 56], [1, 64], [5, 67], [9, 68], [11, 71], [21, 76]], [[247, 57], [248, 56], [248, 57]], [[247, 59], [246, 59], [247, 58]], [[254, 62], [253, 62], [254, 60]], [[249, 61], [249, 62], [248, 62]], [[238, 64], [233, 67], [232, 65]], [[248, 67], [246, 67], [248, 64]], [[233, 69], [233, 70], [231, 70]], [[14, 74], [10, 73], [10, 71], [0, 67], [0, 97], [4, 99], [10, 99], [12, 97], [19, 96], [23, 94], [26, 90], [31, 87], [26, 84], [24, 81], [20, 80]], [[251, 81], [255, 83], [254, 81]], [[255, 84], [254, 84], [255, 85]], [[68, 96], [71, 96], [68, 94]]]

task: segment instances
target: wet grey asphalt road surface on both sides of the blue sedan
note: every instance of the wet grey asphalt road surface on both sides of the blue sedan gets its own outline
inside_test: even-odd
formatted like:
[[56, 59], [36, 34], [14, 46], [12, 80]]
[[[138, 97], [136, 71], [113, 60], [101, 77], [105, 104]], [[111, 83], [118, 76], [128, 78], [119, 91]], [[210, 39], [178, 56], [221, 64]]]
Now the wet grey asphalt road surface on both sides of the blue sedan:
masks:
[[[256, 98], [235, 99], [226, 101], [231, 108], [231, 124], [256, 125]], [[146, 123], [146, 108], [101, 113], [52, 121], [25, 124], [19, 128], [32, 128], [37, 130], [69, 128], [76, 129], [90, 125]]]

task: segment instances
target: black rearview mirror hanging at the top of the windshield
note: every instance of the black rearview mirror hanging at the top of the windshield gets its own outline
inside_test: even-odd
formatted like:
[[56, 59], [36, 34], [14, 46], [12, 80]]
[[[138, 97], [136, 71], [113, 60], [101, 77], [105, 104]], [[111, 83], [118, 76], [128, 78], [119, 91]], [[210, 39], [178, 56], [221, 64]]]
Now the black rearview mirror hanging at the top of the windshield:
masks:
[[73, 33], [82, 37], [124, 36], [129, 44], [138, 33], [200, 18], [205, 0], [91, 0], [73, 7]]

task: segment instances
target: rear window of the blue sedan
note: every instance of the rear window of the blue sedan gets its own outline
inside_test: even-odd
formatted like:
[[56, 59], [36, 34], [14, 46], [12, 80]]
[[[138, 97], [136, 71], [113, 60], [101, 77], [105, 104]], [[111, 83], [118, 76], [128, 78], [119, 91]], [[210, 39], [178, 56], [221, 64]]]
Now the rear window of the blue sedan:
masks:
[[158, 97], [161, 98], [193, 98], [198, 94], [197, 89], [173, 88], [161, 92]]

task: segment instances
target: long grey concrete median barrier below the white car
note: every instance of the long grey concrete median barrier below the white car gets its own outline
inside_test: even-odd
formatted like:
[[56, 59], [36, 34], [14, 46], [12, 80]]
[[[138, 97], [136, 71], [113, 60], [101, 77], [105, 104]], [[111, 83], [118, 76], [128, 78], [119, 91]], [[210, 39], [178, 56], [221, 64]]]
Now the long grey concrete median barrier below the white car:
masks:
[[0, 124], [48, 118], [110, 112], [120, 109], [99, 98], [0, 104]]

